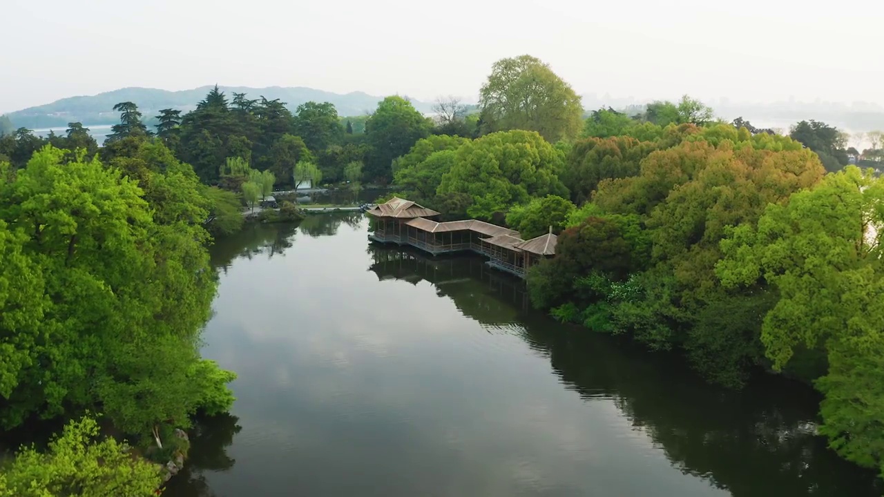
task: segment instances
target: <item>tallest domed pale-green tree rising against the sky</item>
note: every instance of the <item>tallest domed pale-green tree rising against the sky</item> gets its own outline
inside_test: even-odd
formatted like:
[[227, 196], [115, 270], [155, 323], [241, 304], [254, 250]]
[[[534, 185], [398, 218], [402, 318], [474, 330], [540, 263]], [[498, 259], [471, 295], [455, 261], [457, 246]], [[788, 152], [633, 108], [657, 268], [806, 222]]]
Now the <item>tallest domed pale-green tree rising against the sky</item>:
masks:
[[580, 96], [540, 59], [502, 58], [479, 92], [484, 130], [536, 131], [547, 141], [574, 138], [581, 127]]

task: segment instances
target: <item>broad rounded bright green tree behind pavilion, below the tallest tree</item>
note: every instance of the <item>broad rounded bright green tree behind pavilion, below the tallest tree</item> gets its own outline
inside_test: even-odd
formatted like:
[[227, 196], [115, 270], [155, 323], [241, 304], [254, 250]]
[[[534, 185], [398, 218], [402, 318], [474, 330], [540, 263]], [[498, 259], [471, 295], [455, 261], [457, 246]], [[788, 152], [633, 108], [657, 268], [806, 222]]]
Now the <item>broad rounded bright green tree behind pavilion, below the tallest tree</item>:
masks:
[[560, 173], [564, 157], [560, 150], [531, 131], [492, 133], [466, 141], [456, 152], [454, 164], [442, 176], [438, 195], [467, 194], [470, 216], [491, 219], [514, 203], [532, 197], [568, 196]]

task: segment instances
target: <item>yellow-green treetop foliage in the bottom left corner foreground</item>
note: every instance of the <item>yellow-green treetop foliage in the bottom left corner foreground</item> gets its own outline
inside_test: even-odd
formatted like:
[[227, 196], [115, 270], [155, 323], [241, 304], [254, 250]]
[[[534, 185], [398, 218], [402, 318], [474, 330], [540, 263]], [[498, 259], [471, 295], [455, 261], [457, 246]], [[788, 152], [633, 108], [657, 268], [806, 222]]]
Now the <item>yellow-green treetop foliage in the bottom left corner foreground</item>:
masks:
[[99, 439], [92, 417], [73, 420], [46, 452], [19, 450], [0, 474], [0, 495], [9, 497], [149, 497], [163, 478], [160, 468], [133, 457], [125, 443]]

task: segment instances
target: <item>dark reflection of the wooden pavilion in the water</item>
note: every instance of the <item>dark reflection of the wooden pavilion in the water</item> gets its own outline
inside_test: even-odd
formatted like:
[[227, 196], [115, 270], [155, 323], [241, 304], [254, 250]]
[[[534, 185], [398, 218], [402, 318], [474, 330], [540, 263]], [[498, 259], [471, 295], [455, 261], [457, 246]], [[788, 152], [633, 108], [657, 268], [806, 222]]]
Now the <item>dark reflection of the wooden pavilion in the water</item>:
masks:
[[519, 322], [530, 310], [524, 283], [499, 271], [491, 271], [480, 257], [428, 257], [414, 248], [369, 247], [373, 260], [369, 271], [377, 279], [399, 279], [417, 285], [426, 281], [446, 296], [461, 312], [485, 327]]

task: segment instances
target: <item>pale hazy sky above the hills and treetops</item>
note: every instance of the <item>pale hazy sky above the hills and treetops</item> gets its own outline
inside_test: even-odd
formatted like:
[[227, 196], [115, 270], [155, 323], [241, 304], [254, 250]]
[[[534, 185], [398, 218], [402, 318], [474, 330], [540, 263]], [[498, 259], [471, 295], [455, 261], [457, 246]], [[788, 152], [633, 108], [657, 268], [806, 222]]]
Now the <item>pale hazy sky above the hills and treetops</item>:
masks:
[[579, 94], [884, 103], [880, 0], [3, 0], [0, 111], [219, 83], [476, 98], [531, 54]]

